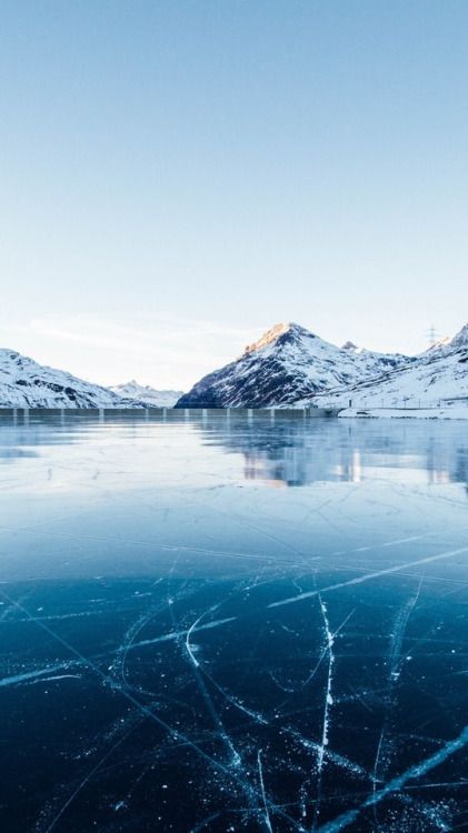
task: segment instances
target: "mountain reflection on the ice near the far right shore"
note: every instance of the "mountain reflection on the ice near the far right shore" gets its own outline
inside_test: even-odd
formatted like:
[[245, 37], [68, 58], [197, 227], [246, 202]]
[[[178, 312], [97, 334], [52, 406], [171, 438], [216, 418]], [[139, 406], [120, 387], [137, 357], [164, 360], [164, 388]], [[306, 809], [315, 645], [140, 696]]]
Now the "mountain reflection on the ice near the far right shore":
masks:
[[[468, 440], [464, 441], [461, 430], [456, 431], [460, 440], [454, 446], [454, 432], [448, 429], [440, 434], [432, 423], [425, 431], [421, 448], [420, 430], [415, 424], [391, 432], [338, 420], [305, 422], [302, 415], [293, 419], [281, 413], [255, 414], [251, 419], [251, 430], [246, 430], [245, 416], [230, 414], [226, 426], [209, 439], [243, 455], [247, 480], [272, 485], [359, 482], [382, 469], [388, 478], [392, 471], [405, 469], [407, 476], [410, 471], [421, 483], [468, 483]], [[411, 445], [414, 451], [408, 449]]]

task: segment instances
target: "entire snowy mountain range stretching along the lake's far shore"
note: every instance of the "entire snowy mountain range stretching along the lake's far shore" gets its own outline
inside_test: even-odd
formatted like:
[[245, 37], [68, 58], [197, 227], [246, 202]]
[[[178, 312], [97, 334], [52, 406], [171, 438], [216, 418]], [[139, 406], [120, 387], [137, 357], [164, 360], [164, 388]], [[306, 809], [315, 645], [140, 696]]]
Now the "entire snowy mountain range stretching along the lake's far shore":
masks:
[[418, 357], [338, 348], [299, 324], [277, 324], [236, 361], [186, 394], [137, 382], [113, 389], [0, 349], [0, 408], [351, 409], [444, 407], [468, 402], [468, 324]]

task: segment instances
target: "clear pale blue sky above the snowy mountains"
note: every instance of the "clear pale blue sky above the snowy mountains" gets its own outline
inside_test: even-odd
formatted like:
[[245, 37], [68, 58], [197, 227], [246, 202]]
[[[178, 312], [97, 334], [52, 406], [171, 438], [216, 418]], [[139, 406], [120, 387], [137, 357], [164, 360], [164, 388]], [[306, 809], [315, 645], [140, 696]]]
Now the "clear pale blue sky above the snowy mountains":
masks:
[[0, 345], [187, 388], [468, 321], [466, 0], [0, 0]]

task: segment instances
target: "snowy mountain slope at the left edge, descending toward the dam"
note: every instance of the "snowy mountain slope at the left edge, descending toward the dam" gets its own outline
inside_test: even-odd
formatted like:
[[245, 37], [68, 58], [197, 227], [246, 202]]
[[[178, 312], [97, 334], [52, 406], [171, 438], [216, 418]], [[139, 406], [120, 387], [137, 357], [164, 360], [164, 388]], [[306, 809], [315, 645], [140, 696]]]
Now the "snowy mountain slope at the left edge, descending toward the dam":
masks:
[[99, 384], [0, 349], [0, 408], [142, 408]]

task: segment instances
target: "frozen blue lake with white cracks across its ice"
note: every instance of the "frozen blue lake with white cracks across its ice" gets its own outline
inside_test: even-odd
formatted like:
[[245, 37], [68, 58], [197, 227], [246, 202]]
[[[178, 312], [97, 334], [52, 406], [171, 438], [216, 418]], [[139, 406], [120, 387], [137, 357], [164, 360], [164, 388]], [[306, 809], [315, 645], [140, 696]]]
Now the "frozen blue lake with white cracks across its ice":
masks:
[[468, 830], [468, 429], [0, 415], [6, 833]]

